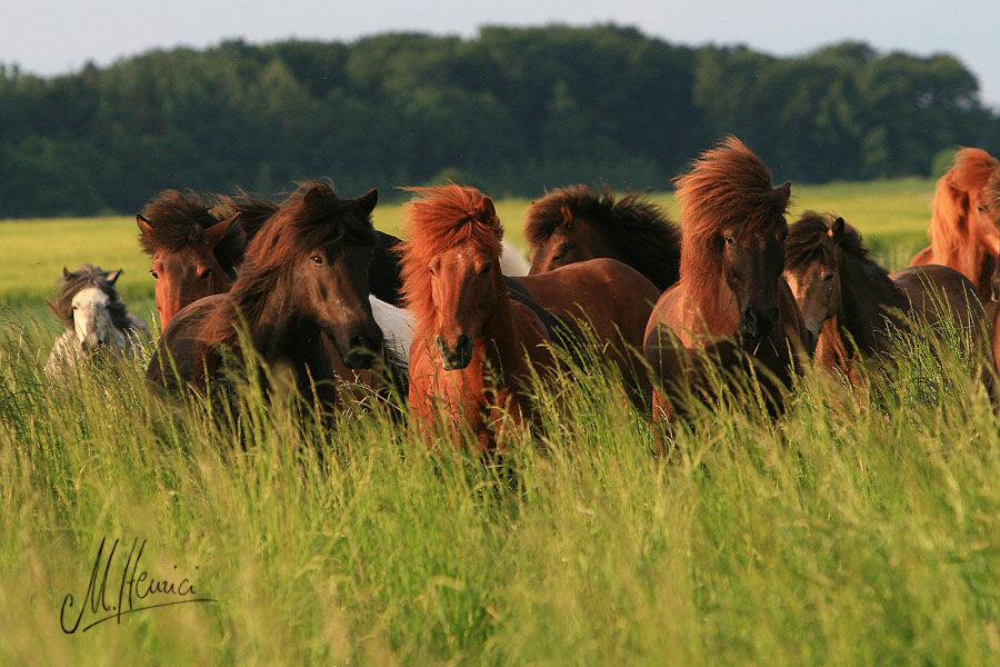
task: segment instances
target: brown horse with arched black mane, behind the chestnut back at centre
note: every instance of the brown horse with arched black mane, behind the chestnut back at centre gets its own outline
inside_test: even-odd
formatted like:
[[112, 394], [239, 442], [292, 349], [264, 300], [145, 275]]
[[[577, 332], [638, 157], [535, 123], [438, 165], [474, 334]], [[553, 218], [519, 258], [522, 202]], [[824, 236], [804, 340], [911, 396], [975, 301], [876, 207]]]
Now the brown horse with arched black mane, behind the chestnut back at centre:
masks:
[[646, 276], [660, 291], [677, 282], [680, 231], [656, 203], [636, 195], [616, 199], [587, 186], [549, 192], [528, 207], [529, 276], [610, 257]]

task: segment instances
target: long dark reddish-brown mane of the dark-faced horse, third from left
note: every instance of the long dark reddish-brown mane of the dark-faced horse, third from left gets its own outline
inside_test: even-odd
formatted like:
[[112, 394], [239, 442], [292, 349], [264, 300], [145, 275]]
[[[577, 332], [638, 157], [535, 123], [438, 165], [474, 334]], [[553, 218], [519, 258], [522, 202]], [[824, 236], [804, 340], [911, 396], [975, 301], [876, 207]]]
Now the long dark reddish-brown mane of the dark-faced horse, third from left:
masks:
[[[248, 323], [257, 322], [268, 295], [286, 279], [286, 269], [300, 255], [340, 238], [374, 246], [371, 216], [362, 215], [353, 199], [341, 199], [332, 183], [302, 181], [247, 246], [240, 275], [229, 291], [237, 311]], [[216, 331], [216, 339], [236, 347], [238, 331], [229, 322], [223, 327]]]

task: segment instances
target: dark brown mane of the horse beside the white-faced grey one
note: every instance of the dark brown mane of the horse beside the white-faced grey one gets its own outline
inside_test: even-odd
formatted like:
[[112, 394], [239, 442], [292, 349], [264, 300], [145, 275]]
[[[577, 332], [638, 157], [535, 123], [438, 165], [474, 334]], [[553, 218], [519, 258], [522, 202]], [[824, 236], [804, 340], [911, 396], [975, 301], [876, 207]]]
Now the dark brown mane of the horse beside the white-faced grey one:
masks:
[[[142, 217], [149, 221], [151, 232], [140, 232], [139, 245], [147, 255], [158, 250], [177, 252], [184, 246], [197, 243], [206, 229], [222, 221], [222, 217], [213, 215], [217, 210], [193, 190], [163, 190], [142, 208]], [[240, 226], [234, 225], [216, 245], [213, 252], [223, 270], [236, 276], [246, 248], [246, 237]]]

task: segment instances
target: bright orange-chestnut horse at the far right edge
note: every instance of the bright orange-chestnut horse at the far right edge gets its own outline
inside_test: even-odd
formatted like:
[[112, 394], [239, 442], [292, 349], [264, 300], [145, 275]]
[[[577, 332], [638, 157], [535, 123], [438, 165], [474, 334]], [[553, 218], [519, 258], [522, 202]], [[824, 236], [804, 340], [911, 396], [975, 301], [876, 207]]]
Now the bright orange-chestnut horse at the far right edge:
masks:
[[996, 273], [1000, 253], [1000, 162], [979, 148], [962, 148], [938, 180], [928, 229], [931, 245], [910, 266], [943, 265], [962, 273], [983, 301], [1000, 296]]

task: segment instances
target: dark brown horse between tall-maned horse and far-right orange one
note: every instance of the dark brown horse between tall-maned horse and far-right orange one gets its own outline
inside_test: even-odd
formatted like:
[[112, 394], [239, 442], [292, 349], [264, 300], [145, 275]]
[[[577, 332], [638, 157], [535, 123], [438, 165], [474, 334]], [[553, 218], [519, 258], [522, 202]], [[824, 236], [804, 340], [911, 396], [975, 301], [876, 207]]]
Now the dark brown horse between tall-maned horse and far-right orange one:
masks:
[[817, 361], [854, 384], [854, 361], [891, 351], [889, 329], [906, 330], [904, 315], [936, 325], [943, 305], [977, 338], [986, 318], [976, 287], [954, 269], [928, 265], [887, 273], [843, 218], [812, 211], [789, 229], [784, 276]]

